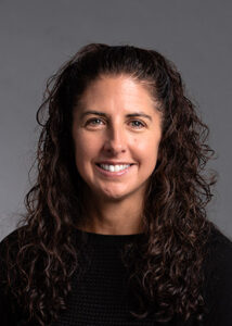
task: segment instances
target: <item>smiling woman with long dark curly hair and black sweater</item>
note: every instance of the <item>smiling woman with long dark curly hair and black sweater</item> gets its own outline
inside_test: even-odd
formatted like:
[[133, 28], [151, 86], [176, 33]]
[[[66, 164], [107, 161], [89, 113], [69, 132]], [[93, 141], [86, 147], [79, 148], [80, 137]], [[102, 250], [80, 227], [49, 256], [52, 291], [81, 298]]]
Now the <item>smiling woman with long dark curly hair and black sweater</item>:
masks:
[[215, 152], [175, 65], [90, 43], [37, 120], [38, 178], [0, 247], [4, 325], [231, 325], [232, 242], [205, 210]]

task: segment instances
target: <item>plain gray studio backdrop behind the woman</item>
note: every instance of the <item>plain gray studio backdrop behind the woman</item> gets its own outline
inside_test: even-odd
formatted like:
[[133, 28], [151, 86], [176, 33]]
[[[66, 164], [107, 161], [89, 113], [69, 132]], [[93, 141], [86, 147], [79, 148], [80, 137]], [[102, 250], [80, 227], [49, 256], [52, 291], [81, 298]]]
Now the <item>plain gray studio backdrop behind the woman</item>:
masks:
[[218, 153], [208, 218], [231, 237], [231, 30], [230, 0], [0, 0], [0, 238], [24, 212], [46, 80], [89, 42], [147, 47], [176, 63]]

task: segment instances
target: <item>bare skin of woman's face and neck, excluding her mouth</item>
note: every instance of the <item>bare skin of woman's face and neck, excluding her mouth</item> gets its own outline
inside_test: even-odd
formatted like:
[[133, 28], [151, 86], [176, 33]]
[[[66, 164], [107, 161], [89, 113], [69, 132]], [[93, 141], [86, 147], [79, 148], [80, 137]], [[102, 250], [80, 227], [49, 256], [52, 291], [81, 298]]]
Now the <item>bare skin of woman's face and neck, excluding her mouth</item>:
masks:
[[[162, 137], [156, 105], [142, 84], [120, 75], [93, 82], [74, 108], [75, 160], [86, 181], [87, 208], [86, 224], [78, 228], [105, 235], [142, 233], [144, 193]], [[105, 115], [83, 115], [87, 111]], [[126, 174], [106, 177], [95, 165], [105, 160], [133, 165]]]

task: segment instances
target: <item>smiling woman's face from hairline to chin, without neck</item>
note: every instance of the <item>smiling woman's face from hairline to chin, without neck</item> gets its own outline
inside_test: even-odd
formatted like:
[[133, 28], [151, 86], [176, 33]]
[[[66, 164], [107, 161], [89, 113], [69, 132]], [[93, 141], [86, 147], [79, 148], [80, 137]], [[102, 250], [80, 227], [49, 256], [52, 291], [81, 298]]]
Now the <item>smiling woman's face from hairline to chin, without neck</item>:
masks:
[[162, 137], [155, 106], [144, 86], [128, 76], [102, 76], [87, 88], [74, 108], [72, 134], [76, 166], [91, 195], [144, 196]]

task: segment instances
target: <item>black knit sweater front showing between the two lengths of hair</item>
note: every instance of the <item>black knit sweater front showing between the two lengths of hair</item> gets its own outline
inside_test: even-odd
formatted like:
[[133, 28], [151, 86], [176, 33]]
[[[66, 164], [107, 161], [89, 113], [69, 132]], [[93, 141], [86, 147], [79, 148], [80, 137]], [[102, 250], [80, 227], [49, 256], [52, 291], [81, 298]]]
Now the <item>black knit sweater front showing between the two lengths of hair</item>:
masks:
[[80, 259], [85, 272], [76, 273], [69, 309], [54, 325], [154, 325], [152, 317], [137, 321], [129, 314], [128, 273], [120, 256], [126, 243], [138, 242], [143, 235], [82, 235], [80, 240], [77, 230], [77, 243], [86, 243]]

